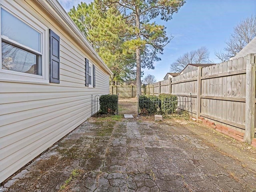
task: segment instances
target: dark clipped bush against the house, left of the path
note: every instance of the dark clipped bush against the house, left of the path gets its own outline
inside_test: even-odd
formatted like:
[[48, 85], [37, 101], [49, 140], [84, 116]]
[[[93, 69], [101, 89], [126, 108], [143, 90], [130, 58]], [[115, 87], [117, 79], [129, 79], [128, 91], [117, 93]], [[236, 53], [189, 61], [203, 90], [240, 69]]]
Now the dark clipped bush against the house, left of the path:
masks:
[[102, 114], [115, 114], [118, 107], [117, 95], [101, 95], [100, 96], [100, 111]]

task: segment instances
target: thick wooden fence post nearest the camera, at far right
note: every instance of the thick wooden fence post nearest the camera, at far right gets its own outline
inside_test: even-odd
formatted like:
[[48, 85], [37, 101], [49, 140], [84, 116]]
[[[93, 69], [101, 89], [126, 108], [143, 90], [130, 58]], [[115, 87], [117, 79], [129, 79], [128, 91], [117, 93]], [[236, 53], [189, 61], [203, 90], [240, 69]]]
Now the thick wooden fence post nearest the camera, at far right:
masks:
[[255, 137], [255, 54], [249, 54], [246, 62], [245, 134], [244, 142], [251, 144]]

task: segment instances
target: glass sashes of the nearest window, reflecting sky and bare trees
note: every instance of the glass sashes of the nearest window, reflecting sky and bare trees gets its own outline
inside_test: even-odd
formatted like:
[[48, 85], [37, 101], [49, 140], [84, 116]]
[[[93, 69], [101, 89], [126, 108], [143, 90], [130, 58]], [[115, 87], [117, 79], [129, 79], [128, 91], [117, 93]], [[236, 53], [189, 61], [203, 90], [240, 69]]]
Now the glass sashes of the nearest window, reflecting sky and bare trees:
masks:
[[1, 8], [2, 69], [42, 75], [41, 36]]

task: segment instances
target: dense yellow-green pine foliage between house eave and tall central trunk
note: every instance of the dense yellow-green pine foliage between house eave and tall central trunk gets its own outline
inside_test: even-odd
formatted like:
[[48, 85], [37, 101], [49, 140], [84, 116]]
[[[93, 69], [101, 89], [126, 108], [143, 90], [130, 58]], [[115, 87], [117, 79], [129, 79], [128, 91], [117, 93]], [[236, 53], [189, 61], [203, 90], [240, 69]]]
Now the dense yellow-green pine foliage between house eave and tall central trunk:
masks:
[[81, 2], [77, 8], [70, 9], [68, 14], [112, 70], [111, 84], [135, 78], [135, 59], [126, 51], [125, 44], [130, 39], [130, 29], [117, 8], [107, 8], [98, 1], [88, 5]]

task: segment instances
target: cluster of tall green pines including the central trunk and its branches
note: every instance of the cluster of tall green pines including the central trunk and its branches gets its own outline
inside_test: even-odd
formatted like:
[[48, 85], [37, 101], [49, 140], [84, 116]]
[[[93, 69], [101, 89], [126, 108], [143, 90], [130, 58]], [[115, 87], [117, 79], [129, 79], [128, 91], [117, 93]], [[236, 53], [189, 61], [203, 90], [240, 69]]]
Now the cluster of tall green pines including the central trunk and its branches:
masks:
[[[112, 70], [112, 84], [136, 76], [141, 95], [141, 68], [154, 69], [159, 54], [172, 39], [152, 20], [170, 20], [184, 0], [95, 0], [81, 2], [69, 16]], [[136, 70], [135, 70], [136, 66]]]

